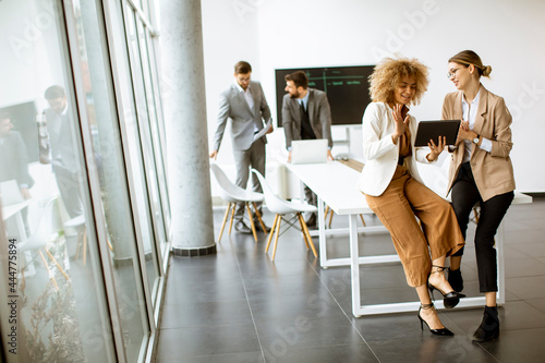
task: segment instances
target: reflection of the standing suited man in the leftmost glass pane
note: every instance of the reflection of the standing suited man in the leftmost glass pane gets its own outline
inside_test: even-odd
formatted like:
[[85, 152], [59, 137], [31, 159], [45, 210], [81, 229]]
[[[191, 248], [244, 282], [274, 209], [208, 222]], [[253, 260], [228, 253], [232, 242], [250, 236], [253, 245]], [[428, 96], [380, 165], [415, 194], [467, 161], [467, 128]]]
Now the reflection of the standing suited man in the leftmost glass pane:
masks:
[[46, 89], [49, 108], [44, 112], [51, 149], [51, 164], [62, 203], [71, 218], [83, 214], [80, 195], [80, 158], [73, 138], [73, 119], [68, 107], [66, 94], [61, 86]]

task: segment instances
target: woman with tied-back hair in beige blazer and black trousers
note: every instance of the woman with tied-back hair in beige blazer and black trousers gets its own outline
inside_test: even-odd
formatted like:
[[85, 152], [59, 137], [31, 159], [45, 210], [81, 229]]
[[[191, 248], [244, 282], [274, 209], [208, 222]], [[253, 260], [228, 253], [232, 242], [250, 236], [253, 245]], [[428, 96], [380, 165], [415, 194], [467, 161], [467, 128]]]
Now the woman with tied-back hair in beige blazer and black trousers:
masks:
[[[485, 295], [486, 306], [473, 340], [487, 341], [499, 335], [494, 237], [513, 198], [514, 177], [509, 158], [511, 114], [504, 98], [481, 84], [481, 77], [489, 77], [492, 68], [483, 65], [474, 51], [464, 50], [450, 58], [448, 70], [448, 77], [458, 90], [445, 97], [443, 119], [462, 120], [457, 143], [449, 146], [452, 161], [448, 191], [464, 238], [473, 206], [476, 203], [481, 206], [475, 255], [480, 291]], [[462, 254], [463, 249], [450, 257], [448, 280], [458, 292], [463, 289]]]

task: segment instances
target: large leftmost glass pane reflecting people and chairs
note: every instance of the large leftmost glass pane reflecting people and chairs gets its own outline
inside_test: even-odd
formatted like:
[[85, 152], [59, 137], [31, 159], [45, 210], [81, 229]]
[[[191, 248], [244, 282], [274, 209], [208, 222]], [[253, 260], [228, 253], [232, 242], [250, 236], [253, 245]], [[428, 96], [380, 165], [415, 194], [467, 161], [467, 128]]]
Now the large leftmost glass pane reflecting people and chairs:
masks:
[[[7, 358], [113, 362], [64, 16], [56, 4], [0, 1], [0, 34], [9, 39], [0, 43], [0, 245], [16, 251], [9, 299], [17, 354]], [[2, 280], [7, 273], [2, 266]], [[0, 294], [2, 317], [7, 299]], [[0, 322], [3, 340], [11, 327]]]

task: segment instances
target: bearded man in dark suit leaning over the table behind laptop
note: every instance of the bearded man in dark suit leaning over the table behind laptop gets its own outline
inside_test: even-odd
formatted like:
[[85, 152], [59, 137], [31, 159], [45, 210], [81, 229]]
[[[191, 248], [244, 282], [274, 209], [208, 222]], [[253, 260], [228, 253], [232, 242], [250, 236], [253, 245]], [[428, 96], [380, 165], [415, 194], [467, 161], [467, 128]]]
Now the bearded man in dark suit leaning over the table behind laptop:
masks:
[[[326, 93], [308, 88], [308, 77], [303, 71], [286, 75], [286, 92], [282, 101], [282, 126], [286, 134], [286, 147], [291, 161], [291, 142], [293, 140], [327, 138], [327, 157], [332, 160], [331, 147], [331, 110]], [[305, 186], [308, 204], [317, 205], [316, 194]], [[316, 226], [316, 214], [306, 221], [308, 227]]]

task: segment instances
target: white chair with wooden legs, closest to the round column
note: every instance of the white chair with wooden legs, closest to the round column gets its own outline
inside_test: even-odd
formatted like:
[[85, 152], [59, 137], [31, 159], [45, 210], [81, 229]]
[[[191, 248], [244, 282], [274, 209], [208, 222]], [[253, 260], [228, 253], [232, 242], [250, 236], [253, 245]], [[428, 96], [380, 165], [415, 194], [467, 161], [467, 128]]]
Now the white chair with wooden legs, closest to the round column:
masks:
[[216, 164], [210, 164], [210, 170], [219, 184], [220, 196], [223, 201], [228, 202], [226, 215], [223, 217], [223, 222], [221, 223], [221, 231], [219, 232], [218, 242], [221, 241], [221, 235], [223, 234], [223, 229], [226, 227], [227, 218], [229, 217], [229, 211], [231, 211], [231, 223], [229, 226], [229, 234], [231, 234], [231, 229], [233, 227], [234, 209], [237, 208], [237, 203], [244, 203], [247, 208], [247, 215], [250, 217], [250, 225], [252, 227], [252, 233], [254, 234], [254, 240], [257, 242], [257, 234], [255, 232], [254, 218], [252, 215], [252, 209], [250, 204], [254, 206], [255, 215], [262, 225], [262, 229], [267, 233], [265, 223], [262, 220], [259, 210], [257, 209], [256, 203], [263, 202], [264, 196], [262, 193], [246, 191], [235, 184], [233, 184], [221, 168]]

